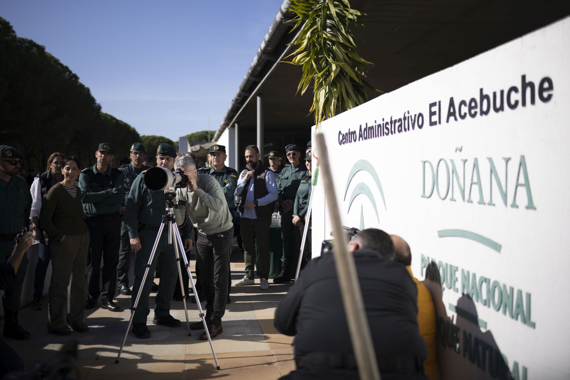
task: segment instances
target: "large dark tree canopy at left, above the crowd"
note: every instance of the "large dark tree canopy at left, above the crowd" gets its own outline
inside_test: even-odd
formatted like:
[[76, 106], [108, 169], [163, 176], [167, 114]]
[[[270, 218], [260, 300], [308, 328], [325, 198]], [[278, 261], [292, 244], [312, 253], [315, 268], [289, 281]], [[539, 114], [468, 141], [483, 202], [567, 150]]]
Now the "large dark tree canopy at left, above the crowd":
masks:
[[101, 142], [113, 145], [118, 161], [141, 141], [135, 128], [101, 112], [70, 68], [44, 46], [18, 37], [3, 18], [0, 67], [0, 144], [21, 150], [24, 166], [42, 171], [53, 152], [73, 154], [83, 167], [93, 165]]

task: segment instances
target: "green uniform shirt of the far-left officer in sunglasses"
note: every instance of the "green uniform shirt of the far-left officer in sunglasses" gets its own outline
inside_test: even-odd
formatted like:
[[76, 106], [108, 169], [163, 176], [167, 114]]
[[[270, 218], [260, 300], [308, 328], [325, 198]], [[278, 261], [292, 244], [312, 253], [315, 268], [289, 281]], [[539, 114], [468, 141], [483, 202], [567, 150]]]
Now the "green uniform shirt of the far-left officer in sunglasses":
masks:
[[0, 235], [16, 234], [28, 225], [32, 196], [25, 179], [13, 175], [9, 182], [0, 179]]

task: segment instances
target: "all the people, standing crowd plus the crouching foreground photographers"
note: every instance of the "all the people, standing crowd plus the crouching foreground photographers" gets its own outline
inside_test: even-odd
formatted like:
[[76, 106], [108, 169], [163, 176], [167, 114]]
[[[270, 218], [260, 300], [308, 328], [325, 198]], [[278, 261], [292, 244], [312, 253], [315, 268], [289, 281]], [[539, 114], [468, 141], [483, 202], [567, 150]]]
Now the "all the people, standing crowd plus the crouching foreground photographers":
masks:
[[[165, 170], [180, 169], [187, 178], [185, 187], [173, 190], [177, 205], [174, 219], [184, 248], [180, 253], [190, 258], [194, 246], [196, 291], [206, 300], [206, 326], [197, 322], [190, 327], [206, 327], [211, 338], [223, 332], [222, 318], [231, 302], [230, 255], [238, 220], [245, 275], [233, 285], [254, 285], [257, 269], [260, 290], [269, 288], [269, 231], [272, 215], [280, 211], [283, 253], [274, 283], [291, 281], [291, 264], [299, 254], [308, 224], [306, 248], [300, 258], [304, 271], [275, 314], [276, 328], [296, 336], [297, 369], [289, 376], [356, 378], [356, 359], [349, 344], [343, 303], [339, 302], [332, 255], [311, 260], [311, 219], [307, 215], [312, 188], [310, 143], [304, 154], [302, 151], [298, 145], [287, 145], [288, 164], [282, 167], [280, 153], [273, 150], [268, 153], [266, 166], [257, 146], [249, 145], [244, 152], [246, 167], [238, 173], [225, 165], [223, 145], [211, 146], [208, 165], [200, 169], [192, 153], [177, 153], [165, 143], [158, 146], [156, 165]], [[132, 144], [130, 162], [118, 168], [110, 165], [113, 146], [107, 143], [95, 151], [96, 164], [82, 170], [78, 158], [53, 153], [46, 170], [32, 179], [31, 186], [28, 178], [19, 175], [22, 157], [16, 148], [0, 146], [3, 337], [30, 337], [18, 322], [18, 311], [27, 266], [25, 252], [34, 242], [39, 242], [32, 303], [35, 310], [44, 306], [43, 283], [50, 261], [52, 267], [47, 297], [49, 333], [87, 333], [84, 310], [99, 304], [100, 308], [119, 312], [121, 308], [114, 301], [117, 291], [132, 296], [132, 332], [137, 338], [150, 337], [146, 321], [153, 290], [157, 292], [153, 324], [180, 326], [181, 321], [170, 314], [170, 303], [189, 297], [190, 279], [182, 261], [177, 260], [173, 244], [168, 243], [168, 230], [161, 228], [165, 191], [146, 185], [144, 174], [150, 166], [145, 165], [148, 156], [143, 144]], [[22, 232], [27, 226], [30, 232]], [[430, 379], [438, 378], [433, 300], [412, 276], [408, 244], [399, 236], [369, 228], [350, 240], [348, 249], [359, 273], [382, 378], [423, 379], [424, 373]], [[131, 284], [133, 251], [135, 278]], [[146, 276], [143, 283], [145, 271], [153, 275]], [[155, 273], [158, 285], [153, 281]], [[139, 304], [134, 308], [139, 293]], [[204, 331], [200, 339], [207, 338]], [[0, 370], [18, 369], [21, 360], [13, 350], [1, 340], [0, 348]], [[400, 377], [402, 374], [405, 377]]]

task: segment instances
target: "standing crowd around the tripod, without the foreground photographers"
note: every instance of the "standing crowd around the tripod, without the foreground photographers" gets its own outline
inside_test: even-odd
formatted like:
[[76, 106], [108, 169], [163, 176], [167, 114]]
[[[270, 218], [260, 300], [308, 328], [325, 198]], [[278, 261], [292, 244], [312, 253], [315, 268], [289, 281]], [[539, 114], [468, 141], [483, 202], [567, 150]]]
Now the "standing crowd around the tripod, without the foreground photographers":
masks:
[[[145, 146], [139, 142], [132, 144], [130, 150], [130, 160], [119, 160], [123, 165], [112, 167], [114, 148], [101, 143], [95, 150], [96, 164], [84, 169], [78, 158], [55, 152], [48, 158], [46, 170], [29, 178], [21, 167], [23, 154], [12, 146], [0, 147], [0, 189], [3, 192], [0, 202], [5, 211], [0, 223], [0, 263], [7, 263], [13, 253], [15, 237], [29, 226], [30, 239], [39, 243], [32, 301], [35, 310], [46, 306], [42, 300], [43, 286], [50, 262], [52, 267], [47, 297], [49, 333], [64, 335], [71, 330], [86, 333], [89, 328], [83, 322], [85, 309], [98, 305], [119, 312], [121, 308], [115, 303], [117, 291], [133, 296], [141, 288], [133, 318], [133, 333], [137, 337], [150, 336], [146, 317], [149, 293], [153, 290], [157, 292], [153, 323], [180, 325], [180, 321], [170, 316], [170, 301], [173, 297], [181, 300], [189, 296], [188, 273], [182, 268], [181, 287], [173, 246], [165, 237], [168, 231], [164, 230], [164, 235], [157, 237], [165, 214], [164, 192], [148, 189], [141, 174], [150, 168], [146, 164], [153, 160], [149, 160]], [[266, 167], [259, 157], [259, 149], [247, 146], [246, 169], [238, 174], [225, 165], [227, 155], [223, 145], [211, 146], [208, 165], [200, 169], [192, 153], [177, 153], [169, 144], [160, 144], [157, 148], [157, 166], [184, 169], [189, 179], [188, 187], [176, 192], [176, 202], [185, 205], [182, 213], [180, 207], [177, 208], [177, 224], [184, 241], [184, 254], [188, 255], [192, 246], [196, 246], [196, 288], [198, 296], [206, 300], [206, 320], [213, 326], [211, 337], [222, 332], [221, 318], [225, 305], [231, 302], [229, 261], [234, 225], [239, 216], [246, 275], [234, 285], [253, 284], [257, 267], [260, 288], [268, 288], [268, 229], [276, 207], [283, 213], [283, 240], [287, 243], [282, 272], [274, 281], [290, 280], [288, 261], [299, 251], [297, 226], [305, 223], [300, 218], [307, 203], [306, 191], [299, 197], [296, 192], [302, 179], [307, 175], [310, 178], [311, 173], [300, 162], [300, 151], [297, 145], [287, 145], [285, 153], [290, 165], [280, 173], [279, 152], [270, 152], [270, 166]], [[310, 154], [306, 161], [310, 162]], [[310, 164], [308, 167], [310, 169]], [[28, 173], [33, 171], [30, 169]], [[235, 199], [239, 211], [235, 211]], [[155, 240], [156, 255], [148, 263]], [[129, 269], [133, 251], [137, 254], [135, 278], [131, 282]], [[310, 259], [310, 255], [306, 256]], [[18, 322], [26, 265], [27, 259], [23, 258], [14, 280], [5, 288], [3, 337], [17, 340], [30, 337]], [[158, 285], [153, 275], [142, 284], [147, 266], [159, 277]], [[87, 292], [84, 291], [86, 278]], [[135, 296], [132, 298], [134, 303]], [[192, 327], [203, 328], [199, 324]]]

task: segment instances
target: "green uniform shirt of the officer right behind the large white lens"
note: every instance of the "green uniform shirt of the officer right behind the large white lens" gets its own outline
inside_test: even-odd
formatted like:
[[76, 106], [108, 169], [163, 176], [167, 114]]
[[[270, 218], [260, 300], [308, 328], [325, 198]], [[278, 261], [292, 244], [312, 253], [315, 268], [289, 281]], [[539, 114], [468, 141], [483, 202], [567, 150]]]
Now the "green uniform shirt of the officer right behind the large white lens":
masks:
[[[174, 204], [176, 205], [176, 201]], [[164, 191], [149, 190], [144, 183], [144, 171], [135, 178], [129, 196], [127, 198], [127, 206], [125, 206], [125, 214], [123, 222], [127, 226], [129, 238], [139, 237], [139, 223], [147, 226], [158, 227], [162, 223], [162, 216], [166, 212], [166, 201]], [[179, 220], [179, 213], [176, 215], [176, 224], [182, 226], [186, 220]], [[192, 239], [192, 224], [185, 223], [180, 234], [182, 239]]]

